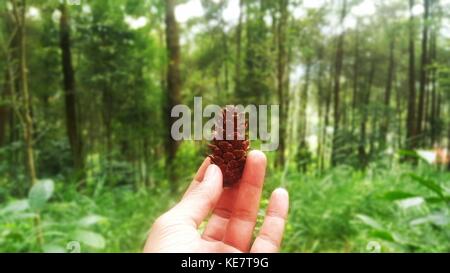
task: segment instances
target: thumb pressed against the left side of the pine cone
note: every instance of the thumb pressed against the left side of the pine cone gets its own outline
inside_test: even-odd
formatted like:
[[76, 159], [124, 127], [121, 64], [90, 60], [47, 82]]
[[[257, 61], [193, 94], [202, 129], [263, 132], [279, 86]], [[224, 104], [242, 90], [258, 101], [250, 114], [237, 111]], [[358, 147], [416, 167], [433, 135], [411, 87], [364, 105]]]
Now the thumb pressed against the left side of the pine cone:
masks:
[[181, 217], [187, 217], [198, 227], [216, 206], [222, 194], [222, 172], [216, 165], [209, 165], [201, 182], [194, 185], [184, 195], [174, 212]]

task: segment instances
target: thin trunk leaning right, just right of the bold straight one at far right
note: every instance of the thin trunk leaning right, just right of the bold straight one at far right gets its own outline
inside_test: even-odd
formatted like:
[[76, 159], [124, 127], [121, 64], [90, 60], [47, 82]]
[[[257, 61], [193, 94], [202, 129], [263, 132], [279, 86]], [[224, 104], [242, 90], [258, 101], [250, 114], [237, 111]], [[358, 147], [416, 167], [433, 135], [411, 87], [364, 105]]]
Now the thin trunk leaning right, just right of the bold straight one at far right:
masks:
[[416, 134], [419, 137], [419, 145], [423, 145], [423, 124], [425, 120], [425, 97], [427, 85], [427, 65], [428, 65], [428, 16], [429, 0], [424, 0], [425, 12], [423, 14], [422, 30], [422, 56], [420, 66], [420, 89], [419, 89], [419, 107], [417, 109]]

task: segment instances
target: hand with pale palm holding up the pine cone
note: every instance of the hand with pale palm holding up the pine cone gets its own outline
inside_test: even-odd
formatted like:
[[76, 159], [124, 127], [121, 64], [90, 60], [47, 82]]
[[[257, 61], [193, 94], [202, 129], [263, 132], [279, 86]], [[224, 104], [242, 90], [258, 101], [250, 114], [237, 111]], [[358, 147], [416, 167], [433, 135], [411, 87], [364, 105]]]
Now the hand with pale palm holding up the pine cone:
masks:
[[[264, 184], [266, 157], [248, 154], [239, 184], [222, 188], [222, 173], [207, 158], [182, 200], [153, 224], [144, 252], [278, 252], [288, 213], [284, 189], [272, 193], [253, 244], [253, 229]], [[213, 211], [203, 234], [198, 229]]]

